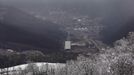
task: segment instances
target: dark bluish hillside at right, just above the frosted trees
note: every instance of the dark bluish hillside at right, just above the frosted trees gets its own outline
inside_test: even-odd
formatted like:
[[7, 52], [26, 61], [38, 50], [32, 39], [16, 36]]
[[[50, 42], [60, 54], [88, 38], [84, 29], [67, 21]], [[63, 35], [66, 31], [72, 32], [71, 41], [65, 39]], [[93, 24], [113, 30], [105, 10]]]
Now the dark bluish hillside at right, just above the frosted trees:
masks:
[[129, 32], [134, 32], [134, 17], [130, 18], [120, 26], [108, 26], [103, 31], [103, 42], [111, 44], [123, 37]]

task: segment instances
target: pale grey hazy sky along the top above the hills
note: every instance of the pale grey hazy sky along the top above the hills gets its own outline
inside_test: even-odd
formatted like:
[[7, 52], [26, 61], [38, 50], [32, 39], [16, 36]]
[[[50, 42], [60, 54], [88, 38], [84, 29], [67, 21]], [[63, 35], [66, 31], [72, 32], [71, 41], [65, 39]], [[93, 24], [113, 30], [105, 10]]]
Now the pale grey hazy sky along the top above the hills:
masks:
[[[95, 5], [99, 8], [100, 11], [103, 9], [107, 12], [111, 12], [111, 10], [119, 10], [125, 15], [134, 15], [134, 0], [0, 0], [1, 4], [10, 4], [10, 5], [22, 5], [25, 6], [26, 3], [32, 6], [36, 5], [43, 5], [47, 2], [49, 3], [73, 3], [74, 5], [77, 2], [82, 3], [85, 2], [87, 5]], [[92, 2], [92, 3], [91, 3]], [[69, 5], [69, 4], [68, 4]], [[82, 4], [81, 4], [82, 6]], [[92, 6], [90, 6], [92, 7]], [[94, 9], [94, 7], [92, 7]], [[89, 9], [90, 10], [90, 9]], [[98, 10], [98, 9], [97, 9]], [[115, 12], [116, 12], [115, 10]], [[118, 11], [117, 11], [118, 12]]]

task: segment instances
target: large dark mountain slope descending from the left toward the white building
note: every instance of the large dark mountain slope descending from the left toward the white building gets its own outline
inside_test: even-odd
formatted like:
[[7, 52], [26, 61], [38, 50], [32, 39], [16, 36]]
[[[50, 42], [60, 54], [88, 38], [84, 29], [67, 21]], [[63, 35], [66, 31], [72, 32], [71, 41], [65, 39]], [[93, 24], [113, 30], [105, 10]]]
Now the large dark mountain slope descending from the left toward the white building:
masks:
[[0, 23], [0, 42], [12, 42], [48, 50], [60, 49], [64, 33], [59, 25], [37, 19], [16, 8], [6, 7], [3, 11], [6, 14]]

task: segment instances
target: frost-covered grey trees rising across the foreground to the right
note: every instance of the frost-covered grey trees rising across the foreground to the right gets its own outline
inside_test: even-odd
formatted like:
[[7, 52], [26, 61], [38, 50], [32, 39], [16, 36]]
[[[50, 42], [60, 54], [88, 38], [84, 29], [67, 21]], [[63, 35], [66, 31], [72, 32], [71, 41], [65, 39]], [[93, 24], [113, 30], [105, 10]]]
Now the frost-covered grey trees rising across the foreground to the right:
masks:
[[11, 72], [15, 75], [133, 75], [133, 38], [134, 32], [130, 32], [126, 38], [116, 41], [114, 47], [96, 54], [79, 55], [77, 60], [67, 61], [62, 68], [48, 68], [47, 64], [39, 67], [31, 63], [24, 70], [20, 68]]

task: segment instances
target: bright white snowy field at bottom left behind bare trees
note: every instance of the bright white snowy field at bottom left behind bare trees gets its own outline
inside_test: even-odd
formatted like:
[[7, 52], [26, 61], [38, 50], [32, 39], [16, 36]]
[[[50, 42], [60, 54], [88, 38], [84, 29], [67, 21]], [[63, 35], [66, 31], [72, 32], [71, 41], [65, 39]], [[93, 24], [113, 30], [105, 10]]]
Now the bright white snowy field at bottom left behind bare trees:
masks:
[[4, 68], [0, 70], [0, 73], [2, 72], [13, 72], [13, 71], [20, 71], [20, 70], [25, 70], [28, 65], [36, 65], [40, 70], [42, 68], [48, 68], [48, 69], [62, 69], [63, 67], [65, 67], [65, 64], [61, 64], [61, 63], [46, 63], [46, 62], [42, 62], [42, 63], [30, 63], [30, 64], [22, 64], [22, 65], [18, 65], [18, 66], [13, 66], [13, 67], [9, 67], [9, 68]]

